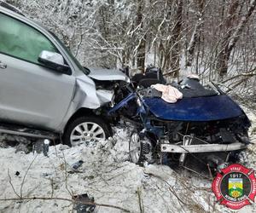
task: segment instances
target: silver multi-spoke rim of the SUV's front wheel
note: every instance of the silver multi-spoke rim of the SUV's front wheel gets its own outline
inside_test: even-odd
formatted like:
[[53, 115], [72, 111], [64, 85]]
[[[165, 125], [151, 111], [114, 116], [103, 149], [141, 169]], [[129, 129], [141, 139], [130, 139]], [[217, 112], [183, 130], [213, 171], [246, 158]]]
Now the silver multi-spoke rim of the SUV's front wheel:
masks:
[[77, 125], [70, 135], [70, 143], [73, 147], [82, 143], [88, 147], [93, 147], [98, 141], [105, 139], [106, 135], [102, 127], [92, 122]]

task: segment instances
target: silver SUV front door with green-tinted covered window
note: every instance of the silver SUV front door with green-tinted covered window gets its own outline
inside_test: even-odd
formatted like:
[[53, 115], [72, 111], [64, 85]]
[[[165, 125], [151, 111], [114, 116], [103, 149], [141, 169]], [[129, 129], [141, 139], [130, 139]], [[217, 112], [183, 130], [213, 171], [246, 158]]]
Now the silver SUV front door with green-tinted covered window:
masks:
[[32, 26], [0, 13], [0, 119], [55, 130], [73, 98], [75, 78], [38, 62], [60, 53]]

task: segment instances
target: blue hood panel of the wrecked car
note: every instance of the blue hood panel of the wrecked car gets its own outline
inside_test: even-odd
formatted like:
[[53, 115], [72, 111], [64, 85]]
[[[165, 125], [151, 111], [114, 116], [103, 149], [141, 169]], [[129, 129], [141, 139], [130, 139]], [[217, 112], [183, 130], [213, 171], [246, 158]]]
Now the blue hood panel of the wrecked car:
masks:
[[144, 98], [156, 118], [179, 121], [213, 121], [236, 118], [243, 112], [228, 95], [183, 98], [175, 104], [160, 98]]

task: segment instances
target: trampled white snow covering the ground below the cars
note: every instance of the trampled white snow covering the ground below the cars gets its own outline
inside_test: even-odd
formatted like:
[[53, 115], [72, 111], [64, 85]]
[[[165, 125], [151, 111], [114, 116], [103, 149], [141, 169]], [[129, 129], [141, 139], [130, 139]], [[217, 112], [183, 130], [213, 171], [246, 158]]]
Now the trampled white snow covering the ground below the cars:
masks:
[[[250, 134], [256, 142], [256, 116], [248, 110], [247, 114], [253, 120]], [[50, 147], [49, 158], [43, 154], [15, 153], [12, 147], [0, 148], [0, 199], [18, 198], [15, 193], [53, 198], [0, 201], [0, 212], [72, 212], [73, 204], [61, 199], [84, 193], [94, 197], [97, 204], [131, 212], [231, 212], [216, 203], [211, 181], [185, 171], [177, 174], [164, 165], [140, 167], [130, 163], [129, 131], [115, 131], [113, 140], [102, 141], [96, 147]], [[254, 169], [255, 153], [255, 145], [250, 146], [246, 165]], [[71, 165], [79, 160], [84, 164], [73, 170]], [[97, 206], [95, 212], [123, 210]], [[256, 204], [239, 212], [256, 212]]]

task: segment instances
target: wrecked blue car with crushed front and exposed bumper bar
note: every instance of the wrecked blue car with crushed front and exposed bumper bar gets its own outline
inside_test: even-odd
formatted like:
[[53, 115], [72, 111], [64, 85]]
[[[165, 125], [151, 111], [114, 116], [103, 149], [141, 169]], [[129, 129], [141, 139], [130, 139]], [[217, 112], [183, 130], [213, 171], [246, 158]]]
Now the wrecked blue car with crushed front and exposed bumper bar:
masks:
[[160, 73], [154, 79], [137, 82], [131, 79], [118, 93], [123, 96], [108, 111], [108, 116], [129, 122], [133, 128], [131, 162], [189, 168], [197, 161], [216, 169], [237, 161], [250, 143], [247, 130], [251, 124], [241, 107], [214, 83], [202, 86], [196, 78], [172, 83], [170, 86], [178, 89], [183, 98], [168, 103], [160, 91], [150, 87], [155, 83], [166, 85], [158, 76]]

